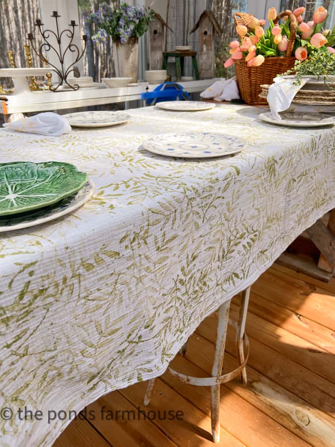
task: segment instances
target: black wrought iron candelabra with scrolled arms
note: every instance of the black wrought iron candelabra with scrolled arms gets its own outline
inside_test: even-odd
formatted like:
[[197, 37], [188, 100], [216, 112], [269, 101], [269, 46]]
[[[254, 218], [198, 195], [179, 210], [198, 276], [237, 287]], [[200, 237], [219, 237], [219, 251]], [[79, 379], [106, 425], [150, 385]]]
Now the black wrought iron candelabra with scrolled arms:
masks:
[[[37, 54], [37, 56], [44, 62], [49, 64], [49, 66], [53, 67], [56, 71], [56, 73], [60, 76], [59, 83], [52, 87], [50, 86], [50, 90], [56, 91], [61, 85], [64, 83], [67, 84], [68, 87], [70, 87], [72, 90], [78, 90], [79, 85], [74, 84], [71, 85], [67, 82], [67, 76], [73, 72], [73, 74], [79, 74], [78, 70], [74, 68], [74, 65], [82, 58], [85, 49], [86, 49], [86, 43], [87, 43], [87, 36], [84, 34], [82, 36], [82, 40], [84, 41], [84, 49], [82, 50], [81, 54], [79, 51], [79, 48], [72, 43], [73, 36], [74, 36], [74, 28], [78, 26], [75, 23], [75, 20], [71, 20], [68, 26], [70, 26], [72, 29], [64, 29], [62, 32], [59, 30], [59, 24], [58, 24], [58, 18], [61, 17], [57, 11], [53, 11], [53, 14], [51, 17], [55, 17], [56, 20], [56, 32], [51, 29], [42, 29], [42, 26], [44, 24], [41, 22], [41, 19], [36, 19], [35, 26], [38, 27], [39, 32], [43, 38], [43, 43], [40, 45], [38, 49], [35, 48], [33, 41], [35, 40], [33, 33], [28, 34], [28, 40], [30, 41], [31, 48], [33, 49], [34, 53]], [[58, 44], [58, 50], [52, 45], [51, 39], [53, 39], [53, 36], [56, 38], [57, 44]], [[62, 50], [62, 41], [65, 42], [65, 40], [69, 39], [67, 46], [65, 50]], [[61, 69], [55, 65], [53, 65], [45, 56], [45, 51], [53, 50], [56, 55], [58, 56], [58, 59], [60, 61]], [[71, 53], [74, 53], [75, 61], [70, 64], [67, 68], [64, 64], [65, 55], [67, 54], [67, 51], [70, 51]], [[50, 58], [49, 58], [50, 59]]]

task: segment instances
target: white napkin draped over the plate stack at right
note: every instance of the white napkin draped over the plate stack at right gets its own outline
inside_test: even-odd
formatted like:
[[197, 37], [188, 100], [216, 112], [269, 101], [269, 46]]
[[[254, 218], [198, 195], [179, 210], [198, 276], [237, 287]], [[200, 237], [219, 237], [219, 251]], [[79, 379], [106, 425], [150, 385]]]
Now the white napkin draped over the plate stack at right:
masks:
[[307, 77], [301, 79], [300, 85], [295, 85], [294, 80], [294, 78], [288, 79], [281, 76], [273, 79], [274, 83], [268, 89], [267, 99], [274, 120], [281, 120], [278, 112], [283, 112], [290, 107], [294, 96], [310, 79]]

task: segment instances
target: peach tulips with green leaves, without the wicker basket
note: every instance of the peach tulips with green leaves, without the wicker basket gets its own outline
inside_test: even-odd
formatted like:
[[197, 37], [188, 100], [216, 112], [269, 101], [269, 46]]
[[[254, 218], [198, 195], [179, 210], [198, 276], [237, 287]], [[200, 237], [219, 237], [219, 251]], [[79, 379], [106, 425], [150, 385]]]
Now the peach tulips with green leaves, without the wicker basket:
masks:
[[[313, 14], [313, 20], [304, 21], [305, 7], [301, 6], [293, 11], [298, 23], [292, 55], [298, 61], [307, 59], [316, 49], [327, 48], [335, 53], [335, 27], [333, 30], [324, 29], [328, 11], [319, 6]], [[252, 16], [249, 29], [244, 25], [237, 25], [236, 32], [239, 40], [230, 42], [231, 57], [224, 63], [230, 67], [235, 60], [245, 59], [248, 67], [258, 67], [265, 61], [265, 57], [284, 56], [290, 38], [290, 18], [283, 17], [281, 24], [274, 24], [277, 17], [275, 8], [268, 10], [269, 28], [264, 29], [266, 20], [259, 20]]]

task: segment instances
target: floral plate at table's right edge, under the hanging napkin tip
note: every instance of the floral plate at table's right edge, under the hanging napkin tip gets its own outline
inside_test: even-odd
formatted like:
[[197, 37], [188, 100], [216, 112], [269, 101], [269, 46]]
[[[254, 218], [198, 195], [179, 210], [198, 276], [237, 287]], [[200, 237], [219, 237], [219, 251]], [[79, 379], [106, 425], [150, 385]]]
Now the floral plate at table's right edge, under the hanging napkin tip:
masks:
[[310, 114], [299, 112], [281, 112], [281, 120], [274, 120], [271, 112], [261, 113], [259, 118], [277, 126], [288, 127], [322, 127], [335, 124], [335, 116], [328, 113]]

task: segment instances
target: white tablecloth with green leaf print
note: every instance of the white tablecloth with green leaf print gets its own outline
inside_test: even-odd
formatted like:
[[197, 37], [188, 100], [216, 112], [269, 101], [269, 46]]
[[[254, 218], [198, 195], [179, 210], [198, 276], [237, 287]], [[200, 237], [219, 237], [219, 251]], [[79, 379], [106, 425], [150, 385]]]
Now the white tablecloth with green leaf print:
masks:
[[[119, 127], [62, 137], [0, 131], [0, 161], [67, 161], [94, 198], [56, 222], [0, 234], [1, 446], [50, 446], [77, 410], [164, 372], [224, 300], [252, 284], [335, 207], [334, 130], [289, 129], [262, 109], [130, 110]], [[146, 138], [239, 136], [234, 157], [183, 160], [138, 150]], [[42, 421], [19, 421], [19, 407]]]

